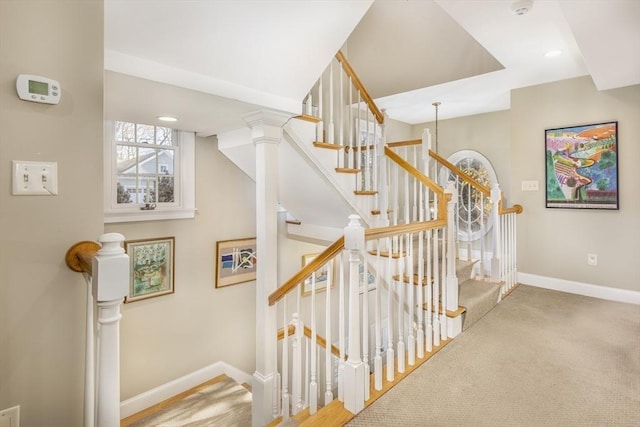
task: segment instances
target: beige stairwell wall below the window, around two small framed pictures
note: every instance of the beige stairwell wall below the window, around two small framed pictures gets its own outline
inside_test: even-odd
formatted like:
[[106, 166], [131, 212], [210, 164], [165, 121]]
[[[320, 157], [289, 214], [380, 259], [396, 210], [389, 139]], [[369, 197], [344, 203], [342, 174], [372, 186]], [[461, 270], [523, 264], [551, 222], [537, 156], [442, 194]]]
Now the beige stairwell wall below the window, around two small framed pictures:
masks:
[[255, 183], [216, 138], [196, 138], [195, 219], [105, 226], [176, 245], [175, 293], [123, 306], [122, 400], [218, 361], [255, 370], [255, 282], [215, 288], [214, 261], [217, 241], [255, 237], [255, 200]]

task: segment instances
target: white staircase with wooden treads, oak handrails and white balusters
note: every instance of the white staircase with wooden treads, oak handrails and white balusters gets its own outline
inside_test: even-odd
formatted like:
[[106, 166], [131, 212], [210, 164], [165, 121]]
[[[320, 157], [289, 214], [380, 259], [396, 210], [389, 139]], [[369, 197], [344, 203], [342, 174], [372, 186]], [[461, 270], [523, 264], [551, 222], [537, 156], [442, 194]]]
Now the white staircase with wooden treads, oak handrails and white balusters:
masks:
[[[431, 151], [428, 130], [387, 141], [384, 114], [341, 53], [304, 110], [284, 127], [279, 155], [293, 157], [280, 160], [280, 202], [290, 236], [327, 248], [268, 298], [281, 326], [263, 350], [278, 368], [271, 414], [254, 413], [254, 425], [342, 425], [516, 285], [522, 208]], [[221, 151], [242, 146], [230, 139], [219, 137]], [[459, 240], [472, 232], [481, 238]]]

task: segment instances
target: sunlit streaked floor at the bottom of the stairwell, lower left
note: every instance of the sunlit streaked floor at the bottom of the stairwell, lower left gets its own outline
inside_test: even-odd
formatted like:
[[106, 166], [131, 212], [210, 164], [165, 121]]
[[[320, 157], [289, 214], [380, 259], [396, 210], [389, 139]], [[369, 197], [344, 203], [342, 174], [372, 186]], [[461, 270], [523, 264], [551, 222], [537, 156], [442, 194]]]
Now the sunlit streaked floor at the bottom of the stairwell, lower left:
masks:
[[228, 378], [149, 415], [130, 427], [250, 427], [251, 393]]

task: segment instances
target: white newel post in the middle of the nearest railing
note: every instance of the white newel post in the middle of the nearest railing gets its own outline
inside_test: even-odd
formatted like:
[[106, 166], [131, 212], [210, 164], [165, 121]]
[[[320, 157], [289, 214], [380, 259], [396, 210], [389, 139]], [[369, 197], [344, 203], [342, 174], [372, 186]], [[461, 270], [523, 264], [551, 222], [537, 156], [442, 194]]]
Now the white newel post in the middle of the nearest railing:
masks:
[[360, 355], [359, 264], [365, 250], [365, 240], [358, 215], [349, 215], [349, 225], [344, 229], [344, 248], [349, 252], [349, 356], [343, 372], [344, 407], [357, 414], [364, 409], [364, 377], [368, 375]]

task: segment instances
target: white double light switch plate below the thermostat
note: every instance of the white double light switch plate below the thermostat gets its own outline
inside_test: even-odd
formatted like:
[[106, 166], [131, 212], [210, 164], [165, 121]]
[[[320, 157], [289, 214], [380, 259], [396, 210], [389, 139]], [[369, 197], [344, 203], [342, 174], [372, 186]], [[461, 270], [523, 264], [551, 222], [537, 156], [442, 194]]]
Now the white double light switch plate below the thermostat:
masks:
[[13, 160], [14, 196], [55, 196], [58, 194], [58, 163]]

